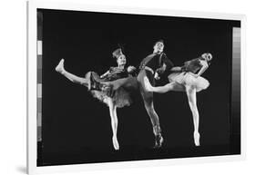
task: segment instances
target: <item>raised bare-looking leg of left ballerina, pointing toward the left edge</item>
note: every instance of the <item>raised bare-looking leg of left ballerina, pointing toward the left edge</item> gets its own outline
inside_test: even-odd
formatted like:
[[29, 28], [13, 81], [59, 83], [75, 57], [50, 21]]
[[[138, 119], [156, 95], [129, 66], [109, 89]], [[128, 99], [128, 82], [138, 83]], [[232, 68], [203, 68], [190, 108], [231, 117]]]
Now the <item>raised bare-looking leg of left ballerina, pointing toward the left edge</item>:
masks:
[[64, 59], [61, 59], [61, 61], [56, 66], [56, 72], [63, 74], [65, 77], [67, 77], [68, 80], [70, 80], [73, 83], [79, 83], [83, 84], [85, 86], [88, 86], [88, 82], [86, 78], [78, 77], [75, 74], [68, 73], [64, 69]]

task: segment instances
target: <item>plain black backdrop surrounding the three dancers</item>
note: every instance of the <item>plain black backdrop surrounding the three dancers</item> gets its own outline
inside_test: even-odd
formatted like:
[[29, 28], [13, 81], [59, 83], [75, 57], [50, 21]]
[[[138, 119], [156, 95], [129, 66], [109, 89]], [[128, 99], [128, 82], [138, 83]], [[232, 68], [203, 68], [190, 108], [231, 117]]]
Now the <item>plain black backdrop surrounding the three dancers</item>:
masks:
[[[121, 15], [74, 11], [43, 12], [42, 147], [38, 165], [162, 159], [230, 153], [230, 81], [232, 27], [239, 22], [152, 15]], [[118, 109], [120, 151], [112, 146], [108, 106], [87, 88], [55, 72], [65, 58], [69, 73], [105, 73], [116, 60], [111, 53], [125, 44], [128, 65], [137, 66], [158, 39], [175, 65], [210, 52], [203, 77], [210, 87], [197, 94], [200, 143], [193, 143], [193, 122], [184, 92], [155, 94], [164, 137], [153, 150], [154, 136], [139, 93], [130, 107]], [[163, 77], [158, 85], [167, 83]]]

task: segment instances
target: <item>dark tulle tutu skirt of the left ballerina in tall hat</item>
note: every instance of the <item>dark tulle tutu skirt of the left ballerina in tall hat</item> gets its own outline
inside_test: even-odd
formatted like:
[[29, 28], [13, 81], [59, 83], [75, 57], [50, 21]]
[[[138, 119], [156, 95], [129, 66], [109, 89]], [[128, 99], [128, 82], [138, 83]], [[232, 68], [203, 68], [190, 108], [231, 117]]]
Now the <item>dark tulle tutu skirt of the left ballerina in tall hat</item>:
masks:
[[[99, 83], [108, 83], [109, 81], [105, 79], [100, 79], [99, 75], [94, 72], [89, 72], [90, 76], [93, 76], [93, 78], [99, 82]], [[86, 74], [86, 79], [88, 79], [90, 76]], [[114, 82], [113, 82], [114, 83]], [[108, 100], [112, 100], [118, 108], [123, 108], [125, 106], [129, 106], [132, 103], [130, 92], [128, 92], [123, 87], [119, 87], [118, 90], [115, 90], [113, 92], [113, 96], [108, 96], [108, 91], [96, 91], [92, 90], [90, 91], [93, 97], [97, 98], [100, 102], [104, 102], [108, 105]]]

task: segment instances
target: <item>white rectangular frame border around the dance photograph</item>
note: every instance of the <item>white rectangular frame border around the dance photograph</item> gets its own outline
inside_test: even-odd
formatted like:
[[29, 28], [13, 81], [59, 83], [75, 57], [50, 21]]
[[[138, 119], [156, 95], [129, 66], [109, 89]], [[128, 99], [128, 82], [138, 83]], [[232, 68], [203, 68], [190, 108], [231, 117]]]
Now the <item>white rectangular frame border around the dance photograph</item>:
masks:
[[[58, 165], [58, 166], [36, 166], [37, 145], [36, 145], [36, 94], [37, 94], [37, 61], [36, 61], [36, 29], [37, 8], [71, 10], [71, 11], [89, 11], [89, 12], [105, 12], [118, 14], [136, 14], [136, 15], [161, 15], [176, 17], [192, 17], [192, 18], [208, 18], [223, 20], [239, 20], [241, 21], [241, 154], [228, 156], [212, 156], [167, 160], [133, 160], [124, 162], [108, 162], [108, 163], [90, 163], [79, 165]], [[121, 7], [107, 5], [87, 5], [74, 4], [67, 2], [43, 2], [38, 0], [30, 0], [26, 2], [26, 172], [28, 174], [49, 173], [49, 172], [67, 172], [80, 170], [111, 170], [136, 167], [151, 166], [167, 166], [176, 164], [191, 163], [209, 163], [220, 161], [233, 161], [246, 159], [246, 16], [238, 14], [194, 12], [194, 11], [178, 11], [170, 9], [151, 9], [138, 7]], [[233, 76], [233, 74], [232, 74]], [[233, 80], [232, 80], [233, 81]], [[240, 80], [239, 80], [240, 81]], [[233, 94], [231, 94], [233, 98]], [[232, 100], [233, 101], [233, 100]]]

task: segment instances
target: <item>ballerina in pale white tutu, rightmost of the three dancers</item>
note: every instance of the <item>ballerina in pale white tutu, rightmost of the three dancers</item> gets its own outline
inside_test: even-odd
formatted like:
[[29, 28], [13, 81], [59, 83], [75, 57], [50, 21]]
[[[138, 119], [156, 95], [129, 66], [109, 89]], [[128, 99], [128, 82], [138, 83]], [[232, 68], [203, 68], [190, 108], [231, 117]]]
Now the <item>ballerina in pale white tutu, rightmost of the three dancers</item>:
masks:
[[200, 146], [199, 122], [200, 116], [197, 108], [196, 93], [205, 90], [210, 83], [200, 75], [204, 73], [212, 59], [211, 53], [203, 53], [199, 58], [185, 62], [181, 67], [173, 67], [169, 74], [169, 83], [164, 86], [153, 87], [148, 79], [144, 79], [148, 92], [165, 93], [169, 91], [186, 92], [189, 100], [189, 107], [193, 116], [194, 123], [194, 143]]

